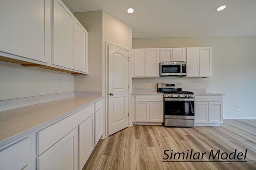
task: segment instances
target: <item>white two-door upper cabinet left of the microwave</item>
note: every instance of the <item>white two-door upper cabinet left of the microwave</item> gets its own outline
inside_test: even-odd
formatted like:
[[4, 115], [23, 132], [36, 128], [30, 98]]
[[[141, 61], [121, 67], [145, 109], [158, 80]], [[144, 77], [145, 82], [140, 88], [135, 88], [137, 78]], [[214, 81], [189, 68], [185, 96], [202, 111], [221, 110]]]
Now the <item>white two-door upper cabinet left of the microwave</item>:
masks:
[[133, 49], [133, 77], [159, 77], [159, 49]]

